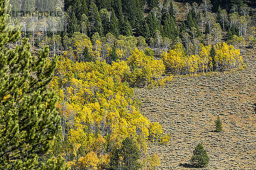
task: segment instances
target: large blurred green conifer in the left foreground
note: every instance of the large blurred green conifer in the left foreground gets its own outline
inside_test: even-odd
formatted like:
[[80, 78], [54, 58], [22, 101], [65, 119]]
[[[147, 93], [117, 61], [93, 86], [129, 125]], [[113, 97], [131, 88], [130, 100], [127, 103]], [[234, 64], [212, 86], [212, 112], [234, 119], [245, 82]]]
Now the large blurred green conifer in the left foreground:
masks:
[[38, 167], [38, 155], [49, 151], [49, 141], [60, 125], [55, 111], [57, 97], [47, 91], [57, 59], [46, 64], [49, 48], [41, 50], [38, 57], [31, 56], [26, 38], [21, 45], [9, 48], [19, 40], [20, 32], [5, 27], [8, 15], [4, 12], [4, 1], [0, 0], [0, 169], [62, 170], [64, 160], [60, 158]]

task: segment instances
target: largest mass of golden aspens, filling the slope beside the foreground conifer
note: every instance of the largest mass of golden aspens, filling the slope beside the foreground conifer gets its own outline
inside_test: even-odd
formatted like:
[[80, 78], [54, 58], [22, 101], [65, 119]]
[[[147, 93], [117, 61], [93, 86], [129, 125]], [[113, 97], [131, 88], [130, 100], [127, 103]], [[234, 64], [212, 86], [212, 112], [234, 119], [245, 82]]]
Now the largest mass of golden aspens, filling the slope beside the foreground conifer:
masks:
[[126, 81], [134, 74], [131, 67], [148, 68], [151, 75], [148, 83], [158, 81], [164, 65], [138, 49], [132, 51], [127, 61], [118, 60], [111, 65], [98, 57], [95, 62], [71, 59], [70, 55], [79, 55], [90, 44], [86, 39], [76, 43], [79, 48], [75, 52], [67, 51], [60, 56], [55, 77], [49, 84], [49, 90], [58, 95], [62, 125], [51, 154], [61, 154], [70, 169], [103, 170], [109, 162], [108, 153], [126, 137], [134, 137], [143, 152], [149, 136], [162, 136], [159, 123], [150, 123], [140, 113], [139, 102], [133, 99], [134, 91]]

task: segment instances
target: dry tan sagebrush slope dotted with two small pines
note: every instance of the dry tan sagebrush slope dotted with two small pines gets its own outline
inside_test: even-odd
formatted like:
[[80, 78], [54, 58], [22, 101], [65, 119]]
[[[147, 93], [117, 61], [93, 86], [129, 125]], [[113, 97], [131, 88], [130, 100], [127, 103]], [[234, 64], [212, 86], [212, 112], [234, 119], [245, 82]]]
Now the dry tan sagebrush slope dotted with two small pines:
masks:
[[[241, 54], [242, 71], [179, 76], [165, 87], [134, 89], [143, 115], [171, 136], [168, 145], [148, 145], [148, 153], [161, 159], [160, 170], [193, 169], [189, 159], [199, 142], [210, 159], [202, 169], [256, 169], [256, 50]], [[214, 132], [218, 115], [221, 133]]]

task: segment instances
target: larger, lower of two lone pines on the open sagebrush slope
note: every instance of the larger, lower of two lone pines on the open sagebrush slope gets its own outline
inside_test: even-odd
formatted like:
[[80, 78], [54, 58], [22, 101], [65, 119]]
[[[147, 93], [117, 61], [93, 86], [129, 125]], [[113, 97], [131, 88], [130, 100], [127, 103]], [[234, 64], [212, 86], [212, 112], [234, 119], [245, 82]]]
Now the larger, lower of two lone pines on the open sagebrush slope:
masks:
[[195, 147], [195, 150], [193, 151], [193, 153], [194, 155], [192, 156], [190, 161], [195, 167], [205, 167], [207, 166], [207, 164], [209, 164], [209, 157], [201, 143], [199, 143]]

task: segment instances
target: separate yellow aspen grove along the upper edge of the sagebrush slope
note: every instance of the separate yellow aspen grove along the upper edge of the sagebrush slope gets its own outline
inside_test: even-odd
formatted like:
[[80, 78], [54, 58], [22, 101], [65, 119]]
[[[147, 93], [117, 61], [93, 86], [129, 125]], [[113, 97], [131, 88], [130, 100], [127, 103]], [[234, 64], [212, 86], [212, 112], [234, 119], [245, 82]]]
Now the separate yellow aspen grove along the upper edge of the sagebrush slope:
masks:
[[216, 55], [210, 56], [211, 46], [201, 45], [201, 51], [197, 55], [186, 55], [182, 44], [177, 44], [173, 50], [164, 52], [162, 59], [166, 68], [173, 74], [197, 74], [212, 71], [212, 63], [216, 62], [216, 71], [228, 71], [242, 67], [240, 50], [225, 42], [215, 45]]

